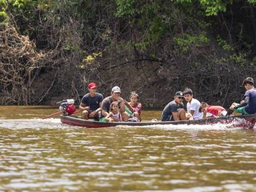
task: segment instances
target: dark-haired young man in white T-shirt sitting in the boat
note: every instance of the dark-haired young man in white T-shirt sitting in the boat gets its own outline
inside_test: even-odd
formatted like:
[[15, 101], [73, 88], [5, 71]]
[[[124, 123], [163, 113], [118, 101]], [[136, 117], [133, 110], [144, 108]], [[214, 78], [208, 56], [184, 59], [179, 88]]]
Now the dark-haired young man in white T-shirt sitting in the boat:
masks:
[[193, 91], [190, 88], [185, 88], [183, 94], [187, 101], [187, 119], [202, 119], [202, 114], [199, 112], [200, 102], [193, 98]]

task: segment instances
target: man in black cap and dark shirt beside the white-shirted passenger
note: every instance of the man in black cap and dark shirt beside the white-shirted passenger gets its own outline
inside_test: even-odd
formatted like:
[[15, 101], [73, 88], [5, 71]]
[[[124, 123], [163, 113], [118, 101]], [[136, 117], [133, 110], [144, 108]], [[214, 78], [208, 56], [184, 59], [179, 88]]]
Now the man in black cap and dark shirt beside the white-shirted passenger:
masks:
[[181, 91], [177, 91], [174, 96], [174, 100], [169, 102], [162, 112], [162, 122], [174, 121], [174, 120], [186, 120], [186, 111], [182, 103], [184, 94]]

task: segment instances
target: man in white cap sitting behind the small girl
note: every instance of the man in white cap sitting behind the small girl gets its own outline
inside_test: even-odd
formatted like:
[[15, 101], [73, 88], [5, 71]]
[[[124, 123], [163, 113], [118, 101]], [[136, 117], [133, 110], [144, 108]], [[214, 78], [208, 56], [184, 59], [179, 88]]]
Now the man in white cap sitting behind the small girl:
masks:
[[118, 86], [114, 86], [111, 90], [111, 96], [108, 96], [107, 98], [103, 99], [103, 101], [101, 103], [102, 117], [100, 119], [100, 122], [106, 122], [105, 117], [109, 114], [111, 103], [113, 101], [118, 101], [122, 121], [126, 121], [127, 119], [130, 118], [130, 115], [127, 114], [125, 111], [126, 107], [124, 105], [124, 99], [121, 98], [120, 95], [121, 95], [121, 89]]

